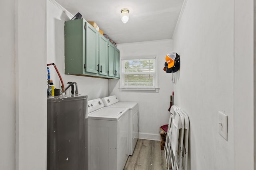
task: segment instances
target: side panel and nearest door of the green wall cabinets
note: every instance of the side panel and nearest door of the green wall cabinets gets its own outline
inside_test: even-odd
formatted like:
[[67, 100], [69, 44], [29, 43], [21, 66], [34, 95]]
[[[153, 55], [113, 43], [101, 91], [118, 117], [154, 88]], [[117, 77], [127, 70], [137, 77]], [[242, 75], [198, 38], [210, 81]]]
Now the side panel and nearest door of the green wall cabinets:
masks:
[[97, 76], [98, 36], [84, 19], [65, 22], [65, 74]]

